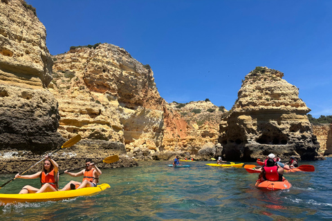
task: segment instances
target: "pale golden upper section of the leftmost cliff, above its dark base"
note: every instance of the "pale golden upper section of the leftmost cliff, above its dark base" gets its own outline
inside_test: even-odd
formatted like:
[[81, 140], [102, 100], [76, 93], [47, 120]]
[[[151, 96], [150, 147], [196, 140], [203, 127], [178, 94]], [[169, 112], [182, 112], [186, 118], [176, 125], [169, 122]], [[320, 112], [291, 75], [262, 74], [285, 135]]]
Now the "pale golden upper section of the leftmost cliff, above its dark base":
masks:
[[53, 61], [46, 29], [24, 1], [0, 1], [0, 83], [46, 87]]

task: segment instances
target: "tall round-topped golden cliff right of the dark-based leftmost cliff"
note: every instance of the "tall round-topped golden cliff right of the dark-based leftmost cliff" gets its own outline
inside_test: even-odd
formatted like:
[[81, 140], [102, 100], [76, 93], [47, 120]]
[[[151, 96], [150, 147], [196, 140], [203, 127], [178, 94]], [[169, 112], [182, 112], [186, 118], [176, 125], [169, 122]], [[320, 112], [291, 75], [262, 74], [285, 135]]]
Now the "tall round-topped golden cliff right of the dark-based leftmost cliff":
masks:
[[159, 151], [163, 106], [151, 68], [118, 46], [76, 48], [54, 57], [49, 88], [59, 101], [59, 132]]

